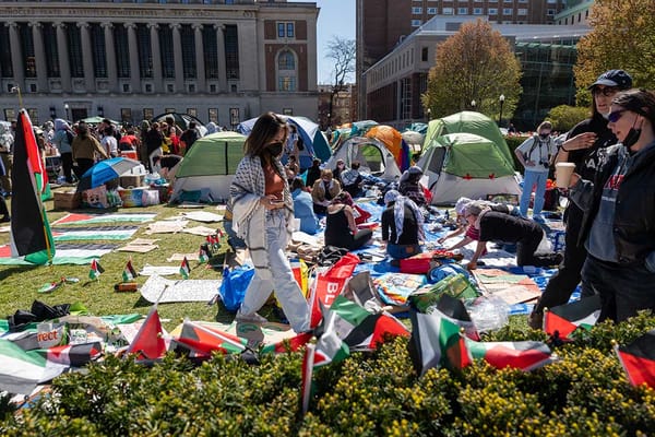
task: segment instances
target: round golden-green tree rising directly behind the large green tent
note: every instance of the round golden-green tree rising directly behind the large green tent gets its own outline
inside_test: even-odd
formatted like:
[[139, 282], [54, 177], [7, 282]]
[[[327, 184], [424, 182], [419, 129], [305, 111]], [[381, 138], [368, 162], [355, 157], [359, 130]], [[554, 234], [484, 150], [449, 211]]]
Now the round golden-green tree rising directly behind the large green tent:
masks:
[[475, 108], [497, 119], [504, 95], [503, 114], [510, 117], [522, 92], [520, 79], [521, 64], [508, 40], [488, 22], [464, 23], [437, 46], [422, 104], [434, 117]]

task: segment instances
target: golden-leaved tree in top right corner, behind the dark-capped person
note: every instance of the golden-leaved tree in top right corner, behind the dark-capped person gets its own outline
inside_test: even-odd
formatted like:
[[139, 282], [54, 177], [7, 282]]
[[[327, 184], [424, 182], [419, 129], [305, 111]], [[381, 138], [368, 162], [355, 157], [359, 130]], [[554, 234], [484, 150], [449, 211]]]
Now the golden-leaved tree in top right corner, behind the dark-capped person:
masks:
[[596, 0], [592, 32], [577, 44], [573, 68], [577, 105], [590, 105], [586, 87], [604, 71], [626, 70], [635, 86], [655, 86], [655, 2], [653, 0]]

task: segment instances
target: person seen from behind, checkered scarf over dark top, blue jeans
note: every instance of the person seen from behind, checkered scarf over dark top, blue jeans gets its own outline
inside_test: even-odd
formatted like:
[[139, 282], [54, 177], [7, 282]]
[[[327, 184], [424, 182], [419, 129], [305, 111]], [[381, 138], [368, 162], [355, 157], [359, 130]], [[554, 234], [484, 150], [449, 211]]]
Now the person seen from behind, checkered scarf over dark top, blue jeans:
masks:
[[393, 259], [405, 259], [421, 251], [425, 239], [422, 214], [416, 203], [396, 190], [384, 194], [386, 209], [382, 212], [382, 241]]

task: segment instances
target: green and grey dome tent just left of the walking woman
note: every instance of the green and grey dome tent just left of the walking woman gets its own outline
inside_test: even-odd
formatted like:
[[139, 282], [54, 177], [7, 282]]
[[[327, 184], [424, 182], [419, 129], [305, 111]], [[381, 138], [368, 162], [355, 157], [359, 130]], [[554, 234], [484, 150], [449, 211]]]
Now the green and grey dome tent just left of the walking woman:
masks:
[[246, 137], [237, 132], [216, 132], [193, 143], [175, 175], [170, 201], [221, 201], [229, 198]]

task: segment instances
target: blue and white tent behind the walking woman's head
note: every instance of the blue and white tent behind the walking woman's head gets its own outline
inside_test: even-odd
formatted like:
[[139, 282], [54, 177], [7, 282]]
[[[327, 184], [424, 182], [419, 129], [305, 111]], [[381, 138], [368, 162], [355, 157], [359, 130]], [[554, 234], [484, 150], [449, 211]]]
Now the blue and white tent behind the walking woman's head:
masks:
[[[330, 160], [332, 151], [327, 143], [327, 139], [323, 132], [321, 132], [321, 129], [319, 129], [319, 125], [306, 117], [282, 115], [281, 117], [286, 118], [288, 122], [295, 125], [298, 134], [302, 138], [305, 150], [300, 151], [300, 168], [305, 169], [311, 167], [311, 162], [314, 156], [323, 162]], [[237, 126], [237, 132], [249, 135], [258, 118], [259, 117], [241, 121], [239, 126]]]

